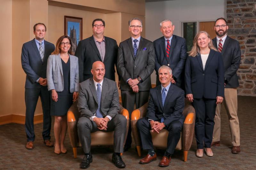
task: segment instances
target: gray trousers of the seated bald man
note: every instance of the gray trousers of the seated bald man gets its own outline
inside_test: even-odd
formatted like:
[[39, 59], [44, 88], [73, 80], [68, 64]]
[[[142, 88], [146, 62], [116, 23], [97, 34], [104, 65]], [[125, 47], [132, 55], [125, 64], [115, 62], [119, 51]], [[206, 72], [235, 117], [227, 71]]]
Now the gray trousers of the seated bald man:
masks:
[[[116, 114], [107, 124], [106, 132], [114, 131], [114, 152], [116, 153], [124, 152], [126, 124], [127, 119], [120, 114]], [[77, 131], [84, 153], [87, 154], [91, 151], [91, 133], [99, 131], [97, 124], [87, 117], [80, 117], [77, 122]]]

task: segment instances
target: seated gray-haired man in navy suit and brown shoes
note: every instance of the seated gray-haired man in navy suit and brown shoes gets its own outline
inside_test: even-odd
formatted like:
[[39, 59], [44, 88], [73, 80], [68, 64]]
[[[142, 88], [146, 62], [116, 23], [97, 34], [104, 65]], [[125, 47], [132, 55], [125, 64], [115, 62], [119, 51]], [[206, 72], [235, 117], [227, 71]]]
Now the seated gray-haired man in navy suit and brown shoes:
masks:
[[159, 166], [169, 166], [171, 155], [180, 140], [180, 132], [184, 122], [182, 114], [185, 106], [184, 91], [171, 83], [172, 69], [161, 66], [158, 70], [161, 85], [150, 89], [148, 111], [146, 117], [137, 122], [142, 148], [148, 150], [140, 164], [148, 164], [156, 160], [150, 131], [159, 133], [162, 129], [169, 131], [167, 148]]

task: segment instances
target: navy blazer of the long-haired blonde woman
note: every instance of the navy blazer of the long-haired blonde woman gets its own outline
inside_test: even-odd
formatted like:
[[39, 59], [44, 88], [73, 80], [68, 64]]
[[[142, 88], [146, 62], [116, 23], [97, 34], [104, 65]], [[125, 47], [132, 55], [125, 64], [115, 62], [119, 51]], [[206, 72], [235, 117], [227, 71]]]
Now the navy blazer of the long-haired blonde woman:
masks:
[[220, 52], [210, 50], [203, 69], [201, 54], [188, 56], [185, 66], [186, 94], [194, 98], [224, 97], [224, 65]]

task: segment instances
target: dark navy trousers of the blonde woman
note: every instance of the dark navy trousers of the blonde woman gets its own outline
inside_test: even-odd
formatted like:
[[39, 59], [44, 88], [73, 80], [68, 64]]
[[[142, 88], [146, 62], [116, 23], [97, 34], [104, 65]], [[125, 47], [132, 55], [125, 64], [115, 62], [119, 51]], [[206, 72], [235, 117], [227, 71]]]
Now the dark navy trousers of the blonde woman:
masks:
[[196, 111], [195, 136], [197, 149], [211, 148], [216, 99], [194, 98]]

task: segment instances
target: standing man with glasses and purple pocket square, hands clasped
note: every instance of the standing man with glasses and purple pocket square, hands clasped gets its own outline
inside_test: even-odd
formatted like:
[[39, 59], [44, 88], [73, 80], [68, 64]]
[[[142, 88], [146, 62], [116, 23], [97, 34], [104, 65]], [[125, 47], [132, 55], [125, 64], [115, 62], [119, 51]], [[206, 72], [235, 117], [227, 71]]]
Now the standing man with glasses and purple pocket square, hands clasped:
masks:
[[[150, 75], [155, 67], [155, 50], [153, 43], [140, 36], [142, 21], [132, 18], [129, 21], [132, 37], [120, 43], [117, 58], [117, 70], [121, 77], [122, 105], [131, 117], [134, 103], [140, 108], [148, 102], [151, 89]], [[124, 146], [124, 151], [131, 147], [131, 125]]]

